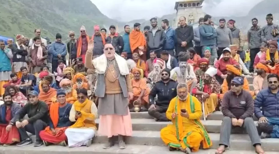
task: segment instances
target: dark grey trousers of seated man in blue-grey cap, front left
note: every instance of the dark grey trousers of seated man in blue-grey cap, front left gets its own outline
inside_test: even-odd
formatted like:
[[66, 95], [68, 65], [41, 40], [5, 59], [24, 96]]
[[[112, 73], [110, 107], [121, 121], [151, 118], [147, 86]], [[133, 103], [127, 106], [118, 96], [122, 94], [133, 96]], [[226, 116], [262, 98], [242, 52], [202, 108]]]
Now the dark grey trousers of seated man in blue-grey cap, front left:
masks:
[[44, 130], [46, 127], [47, 124], [39, 119], [36, 120], [33, 124], [27, 124], [24, 129], [18, 129], [21, 141], [29, 138], [27, 132], [36, 135], [36, 141], [42, 141], [40, 138], [40, 131]]

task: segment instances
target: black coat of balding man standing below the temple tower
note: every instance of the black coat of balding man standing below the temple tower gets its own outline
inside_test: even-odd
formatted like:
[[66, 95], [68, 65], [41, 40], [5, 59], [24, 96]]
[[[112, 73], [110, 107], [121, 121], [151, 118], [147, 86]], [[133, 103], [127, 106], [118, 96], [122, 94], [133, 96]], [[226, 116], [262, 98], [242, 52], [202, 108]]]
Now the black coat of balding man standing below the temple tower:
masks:
[[[177, 39], [176, 46], [176, 56], [181, 51], [186, 52], [189, 47], [194, 47], [192, 40], [194, 39], [194, 30], [190, 25], [186, 25], [185, 27], [178, 27], [175, 30], [175, 35]], [[186, 47], [181, 47], [181, 42], [187, 42]]]

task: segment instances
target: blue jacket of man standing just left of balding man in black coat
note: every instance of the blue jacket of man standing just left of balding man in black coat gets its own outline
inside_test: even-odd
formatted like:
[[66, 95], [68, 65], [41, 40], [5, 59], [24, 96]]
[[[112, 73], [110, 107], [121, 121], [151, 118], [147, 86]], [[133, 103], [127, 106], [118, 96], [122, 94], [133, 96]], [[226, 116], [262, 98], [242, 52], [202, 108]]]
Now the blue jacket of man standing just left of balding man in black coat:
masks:
[[166, 31], [166, 43], [164, 44], [164, 50], [174, 49], [176, 45], [175, 30], [169, 27]]

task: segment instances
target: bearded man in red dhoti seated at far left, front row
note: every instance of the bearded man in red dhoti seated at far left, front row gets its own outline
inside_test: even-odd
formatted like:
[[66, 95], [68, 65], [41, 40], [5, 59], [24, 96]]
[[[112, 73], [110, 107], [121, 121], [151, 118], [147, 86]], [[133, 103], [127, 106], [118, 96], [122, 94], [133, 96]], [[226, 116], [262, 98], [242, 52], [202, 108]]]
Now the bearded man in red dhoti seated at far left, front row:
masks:
[[4, 93], [3, 99], [4, 104], [0, 105], [0, 145], [9, 146], [20, 141], [14, 116], [21, 106], [12, 102], [10, 93]]

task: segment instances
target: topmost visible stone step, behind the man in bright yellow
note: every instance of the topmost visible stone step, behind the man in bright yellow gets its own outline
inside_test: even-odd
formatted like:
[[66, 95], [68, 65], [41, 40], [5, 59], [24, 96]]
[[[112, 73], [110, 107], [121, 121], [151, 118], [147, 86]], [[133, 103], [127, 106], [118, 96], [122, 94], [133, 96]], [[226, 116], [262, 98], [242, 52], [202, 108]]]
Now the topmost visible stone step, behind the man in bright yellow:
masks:
[[[131, 118], [132, 119], [153, 119], [148, 112], [131, 112]], [[207, 118], [207, 120], [222, 120], [223, 119], [223, 113], [221, 111], [216, 111], [211, 113]], [[257, 120], [255, 115], [253, 115], [253, 119]], [[201, 118], [203, 120], [203, 117]]]

